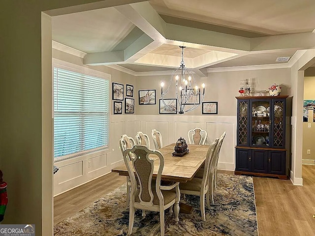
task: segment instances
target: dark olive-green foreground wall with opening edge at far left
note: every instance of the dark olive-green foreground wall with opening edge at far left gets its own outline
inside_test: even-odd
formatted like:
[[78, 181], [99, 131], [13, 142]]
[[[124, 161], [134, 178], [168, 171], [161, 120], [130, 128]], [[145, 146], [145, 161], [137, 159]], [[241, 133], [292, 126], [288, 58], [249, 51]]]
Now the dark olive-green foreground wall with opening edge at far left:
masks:
[[[42, 94], [41, 12], [90, 3], [47, 12], [48, 15], [59, 15], [131, 2], [136, 1], [0, 1], [0, 169], [8, 183], [9, 200], [3, 224], [35, 224], [36, 235], [52, 235], [51, 222], [44, 220], [42, 225], [42, 218], [52, 217], [52, 186], [49, 186], [52, 183], [52, 159], [42, 157], [43, 150], [48, 148], [49, 153], [51, 149], [51, 144], [43, 145], [42, 140], [51, 139], [52, 132], [51, 128], [47, 132], [42, 129], [51, 123], [51, 119], [42, 120], [42, 111], [45, 111], [42, 96], [47, 98], [49, 95]], [[44, 43], [44, 50], [47, 50], [51, 37], [45, 40], [48, 40]], [[51, 53], [45, 54], [43, 68], [49, 71], [51, 58], [47, 55]], [[43, 75], [50, 73], [44, 71]], [[44, 86], [43, 91], [47, 92], [50, 85], [45, 83]], [[45, 115], [49, 117], [44, 114], [44, 118]], [[42, 162], [43, 158], [46, 159]], [[45, 197], [42, 191], [46, 191]], [[46, 195], [51, 198], [47, 199]], [[42, 206], [50, 210], [42, 211]]]

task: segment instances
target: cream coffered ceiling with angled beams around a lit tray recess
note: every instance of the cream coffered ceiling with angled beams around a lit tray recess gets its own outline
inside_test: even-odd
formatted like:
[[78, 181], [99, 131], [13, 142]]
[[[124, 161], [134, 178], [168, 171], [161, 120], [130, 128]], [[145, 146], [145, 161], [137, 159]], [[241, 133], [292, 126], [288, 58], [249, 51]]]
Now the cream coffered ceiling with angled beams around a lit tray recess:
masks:
[[314, 0], [151, 0], [52, 18], [53, 41], [88, 65], [133, 73], [284, 64], [315, 48]]

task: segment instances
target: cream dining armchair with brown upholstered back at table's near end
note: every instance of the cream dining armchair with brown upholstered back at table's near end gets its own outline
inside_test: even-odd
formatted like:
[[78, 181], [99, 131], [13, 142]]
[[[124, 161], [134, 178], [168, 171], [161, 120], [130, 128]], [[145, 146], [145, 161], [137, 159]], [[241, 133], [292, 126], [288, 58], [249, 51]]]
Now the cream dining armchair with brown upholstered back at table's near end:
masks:
[[[131, 162], [129, 161], [130, 153], [134, 154]], [[136, 145], [131, 150], [125, 150], [123, 156], [131, 182], [128, 235], [132, 233], [135, 209], [142, 209], [159, 211], [160, 231], [161, 236], [164, 236], [164, 210], [174, 205], [175, 221], [179, 221], [179, 182], [168, 186], [161, 185], [164, 157], [158, 150]], [[156, 181], [153, 181], [154, 162], [158, 160], [158, 174]]]

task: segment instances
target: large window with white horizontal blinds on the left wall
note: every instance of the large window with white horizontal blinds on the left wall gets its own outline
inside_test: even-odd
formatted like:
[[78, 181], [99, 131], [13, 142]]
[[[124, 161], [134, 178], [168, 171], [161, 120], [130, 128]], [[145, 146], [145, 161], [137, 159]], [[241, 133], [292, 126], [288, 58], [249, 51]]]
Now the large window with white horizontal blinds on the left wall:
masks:
[[109, 80], [54, 67], [54, 157], [108, 147], [108, 121]]

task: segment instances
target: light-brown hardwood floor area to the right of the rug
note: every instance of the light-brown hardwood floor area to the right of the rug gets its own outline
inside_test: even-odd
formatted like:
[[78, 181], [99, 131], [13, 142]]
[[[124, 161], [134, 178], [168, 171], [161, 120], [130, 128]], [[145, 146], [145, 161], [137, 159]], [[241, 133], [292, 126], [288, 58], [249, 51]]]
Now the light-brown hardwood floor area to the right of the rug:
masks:
[[315, 166], [303, 165], [303, 186], [253, 177], [259, 236], [315, 235]]

